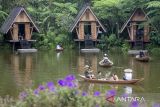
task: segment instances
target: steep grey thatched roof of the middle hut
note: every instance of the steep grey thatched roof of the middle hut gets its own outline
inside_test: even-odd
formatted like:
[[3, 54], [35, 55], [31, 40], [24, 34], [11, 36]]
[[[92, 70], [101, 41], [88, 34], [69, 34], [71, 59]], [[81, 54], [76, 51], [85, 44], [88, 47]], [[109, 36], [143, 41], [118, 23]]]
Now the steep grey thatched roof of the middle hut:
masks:
[[85, 5], [78, 13], [77, 17], [75, 18], [74, 23], [70, 26], [69, 31], [73, 32], [74, 28], [76, 27], [76, 25], [78, 24], [78, 22], [80, 21], [81, 17], [84, 15], [84, 13], [86, 12], [86, 10], [89, 9], [91, 11], [91, 13], [93, 14], [93, 16], [95, 17], [95, 19], [97, 20], [97, 22], [99, 23], [99, 25], [102, 27], [103, 31], [106, 32], [105, 27], [102, 25], [102, 23], [98, 20], [97, 16], [93, 13], [91, 7], [89, 5]]

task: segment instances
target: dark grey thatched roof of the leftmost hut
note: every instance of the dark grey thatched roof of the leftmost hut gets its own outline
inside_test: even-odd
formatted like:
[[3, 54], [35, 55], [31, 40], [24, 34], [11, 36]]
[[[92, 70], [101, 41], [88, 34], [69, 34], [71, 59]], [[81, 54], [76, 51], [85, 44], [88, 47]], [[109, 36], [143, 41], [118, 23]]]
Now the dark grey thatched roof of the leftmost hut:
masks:
[[3, 25], [1, 26], [0, 31], [4, 34], [6, 34], [9, 29], [11, 28], [11, 26], [13, 25], [16, 17], [21, 13], [21, 12], [25, 12], [25, 14], [27, 15], [27, 17], [29, 18], [29, 20], [31, 21], [31, 23], [34, 26], [34, 29], [39, 32], [39, 29], [37, 28], [37, 26], [35, 25], [35, 23], [33, 22], [33, 20], [31, 19], [31, 17], [29, 16], [29, 14], [27, 14], [26, 10], [24, 9], [24, 7], [15, 7], [11, 13], [9, 14], [8, 18], [5, 20], [5, 22], [3, 23]]

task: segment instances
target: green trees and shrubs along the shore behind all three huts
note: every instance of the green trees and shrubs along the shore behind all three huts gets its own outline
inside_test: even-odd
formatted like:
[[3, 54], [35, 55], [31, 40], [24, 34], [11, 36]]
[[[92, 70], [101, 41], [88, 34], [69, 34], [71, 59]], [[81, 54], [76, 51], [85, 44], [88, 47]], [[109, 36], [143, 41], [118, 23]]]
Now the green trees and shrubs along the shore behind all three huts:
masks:
[[[127, 34], [119, 34], [120, 27], [133, 10], [140, 7], [149, 16], [151, 24], [150, 44], [147, 49], [156, 48], [151, 51], [153, 53], [155, 50], [160, 50], [158, 49], [160, 46], [160, 27], [157, 24], [160, 21], [160, 6], [158, 5], [160, 1], [89, 0], [89, 2], [107, 29], [107, 33], [102, 36], [102, 43], [98, 45], [99, 48], [103, 50], [116, 46], [125, 52], [129, 48], [125, 43]], [[62, 43], [65, 48], [76, 48], [77, 45], [73, 41], [73, 35], [69, 33], [69, 28], [85, 4], [85, 0], [57, 0], [56, 2], [52, 0], [13, 0], [11, 2], [2, 0], [0, 1], [0, 25], [4, 23], [9, 12], [15, 6], [23, 6], [40, 29], [39, 34], [33, 34], [33, 39], [37, 40], [34, 47], [41, 50], [54, 49], [56, 44]], [[3, 40], [2, 35], [0, 35], [0, 40]]]

